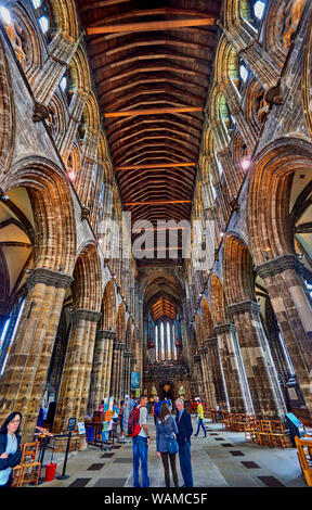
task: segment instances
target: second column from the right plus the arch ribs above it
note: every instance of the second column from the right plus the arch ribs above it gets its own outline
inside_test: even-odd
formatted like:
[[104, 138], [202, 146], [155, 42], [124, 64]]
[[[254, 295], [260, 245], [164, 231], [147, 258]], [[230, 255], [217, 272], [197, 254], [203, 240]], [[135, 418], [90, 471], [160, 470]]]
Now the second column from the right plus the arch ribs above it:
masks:
[[262, 418], [283, 418], [286, 407], [255, 298], [252, 259], [235, 235], [227, 234], [224, 241], [223, 273], [255, 412]]

